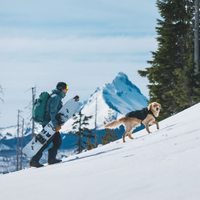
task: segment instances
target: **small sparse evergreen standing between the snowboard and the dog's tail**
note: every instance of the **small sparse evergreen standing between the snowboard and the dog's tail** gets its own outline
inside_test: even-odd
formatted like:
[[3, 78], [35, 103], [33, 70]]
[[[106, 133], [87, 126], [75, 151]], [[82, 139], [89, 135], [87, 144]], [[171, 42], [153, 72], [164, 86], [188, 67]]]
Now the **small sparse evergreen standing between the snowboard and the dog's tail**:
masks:
[[91, 118], [92, 116], [84, 116], [81, 111], [77, 115], [73, 116], [74, 123], [72, 124], [72, 132], [75, 131], [73, 137], [78, 137], [78, 140], [75, 143], [78, 148], [75, 150], [75, 153], [81, 153], [82, 150], [85, 149], [83, 145], [87, 145], [87, 143], [83, 138], [94, 138], [93, 132], [86, 127], [89, 125], [88, 120]]

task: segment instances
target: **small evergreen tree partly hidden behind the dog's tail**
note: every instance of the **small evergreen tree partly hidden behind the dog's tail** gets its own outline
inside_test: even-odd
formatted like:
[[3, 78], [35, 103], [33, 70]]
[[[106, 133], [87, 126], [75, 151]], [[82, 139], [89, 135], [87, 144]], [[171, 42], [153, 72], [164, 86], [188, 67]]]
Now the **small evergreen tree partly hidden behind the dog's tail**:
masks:
[[[107, 124], [108, 122], [111, 122], [113, 120], [116, 120], [116, 117], [114, 116], [113, 110], [111, 107], [109, 107], [108, 110], [108, 118], [105, 118], [104, 124]], [[108, 144], [109, 142], [113, 142], [118, 139], [118, 136], [115, 135], [117, 132], [112, 129], [105, 129], [105, 136], [101, 136], [101, 143], [103, 145]]]

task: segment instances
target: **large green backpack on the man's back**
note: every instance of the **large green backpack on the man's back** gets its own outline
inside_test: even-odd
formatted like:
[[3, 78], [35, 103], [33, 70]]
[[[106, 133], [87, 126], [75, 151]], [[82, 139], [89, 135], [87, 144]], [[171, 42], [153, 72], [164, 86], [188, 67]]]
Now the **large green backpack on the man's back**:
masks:
[[44, 114], [46, 110], [47, 100], [50, 95], [48, 92], [42, 92], [38, 99], [35, 100], [32, 109], [32, 120], [42, 124], [44, 121]]

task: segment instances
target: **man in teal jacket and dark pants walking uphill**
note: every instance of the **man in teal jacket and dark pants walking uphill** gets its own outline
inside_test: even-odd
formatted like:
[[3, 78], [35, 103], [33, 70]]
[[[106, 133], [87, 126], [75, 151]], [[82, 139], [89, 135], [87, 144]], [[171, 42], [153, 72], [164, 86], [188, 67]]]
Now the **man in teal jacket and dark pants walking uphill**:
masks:
[[[56, 159], [57, 151], [60, 149], [62, 145], [62, 138], [59, 133], [61, 126], [59, 125], [58, 121], [56, 120], [56, 115], [58, 111], [62, 108], [62, 99], [66, 96], [68, 91], [68, 85], [64, 82], [59, 82], [56, 86], [55, 90], [52, 90], [52, 94], [50, 95], [47, 105], [46, 111], [44, 115], [44, 121], [42, 126], [45, 127], [49, 121], [52, 121], [53, 126], [56, 129], [56, 133], [53, 137], [40, 149], [40, 151], [32, 157], [29, 166], [30, 167], [42, 167], [44, 165], [39, 163], [40, 158], [42, 157], [42, 152], [49, 146], [52, 142], [53, 145], [48, 150], [48, 164], [59, 163], [62, 160]], [[78, 96], [75, 96], [74, 99], [79, 100]]]

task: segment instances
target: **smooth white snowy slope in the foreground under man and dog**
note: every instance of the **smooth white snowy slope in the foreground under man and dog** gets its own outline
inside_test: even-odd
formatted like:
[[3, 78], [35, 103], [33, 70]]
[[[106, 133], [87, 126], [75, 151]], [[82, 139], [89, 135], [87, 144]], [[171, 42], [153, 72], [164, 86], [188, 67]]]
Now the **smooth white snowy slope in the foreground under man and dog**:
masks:
[[62, 163], [0, 176], [3, 200], [199, 200], [200, 104]]

